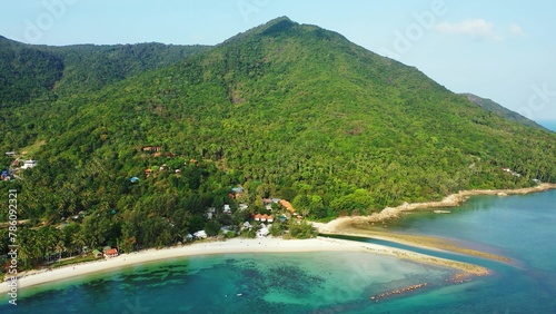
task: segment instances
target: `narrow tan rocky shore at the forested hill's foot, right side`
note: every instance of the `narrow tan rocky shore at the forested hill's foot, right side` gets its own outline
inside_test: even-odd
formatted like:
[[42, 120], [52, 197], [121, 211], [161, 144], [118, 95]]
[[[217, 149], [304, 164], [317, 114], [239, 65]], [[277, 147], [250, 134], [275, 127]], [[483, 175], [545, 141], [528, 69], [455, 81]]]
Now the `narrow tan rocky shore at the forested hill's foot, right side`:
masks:
[[[405, 212], [415, 209], [430, 209], [441, 207], [457, 207], [464, 204], [471, 196], [479, 195], [525, 195], [538, 192], [546, 192], [556, 189], [556, 184], [539, 184], [535, 187], [516, 188], [516, 189], [469, 189], [460, 190], [459, 193], [450, 194], [443, 200], [424, 202], [424, 203], [404, 203], [397, 207], [386, 207], [379, 213], [373, 213], [369, 216], [345, 216], [338, 217], [328, 223], [315, 223], [312, 225], [321, 234], [342, 234], [346, 229], [353, 228], [356, 225], [365, 225], [371, 223], [383, 223], [390, 219], [397, 219], [404, 215]], [[346, 234], [347, 235], [347, 234]], [[385, 236], [387, 233], [385, 233]]]

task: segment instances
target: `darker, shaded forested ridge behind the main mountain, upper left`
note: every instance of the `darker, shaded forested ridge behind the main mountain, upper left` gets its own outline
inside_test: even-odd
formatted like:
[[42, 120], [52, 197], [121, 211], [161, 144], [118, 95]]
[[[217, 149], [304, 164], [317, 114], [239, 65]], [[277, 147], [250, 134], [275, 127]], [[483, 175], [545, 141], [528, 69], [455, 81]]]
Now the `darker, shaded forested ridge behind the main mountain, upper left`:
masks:
[[155, 42], [48, 47], [23, 45], [0, 36], [1, 105], [96, 91], [208, 49]]

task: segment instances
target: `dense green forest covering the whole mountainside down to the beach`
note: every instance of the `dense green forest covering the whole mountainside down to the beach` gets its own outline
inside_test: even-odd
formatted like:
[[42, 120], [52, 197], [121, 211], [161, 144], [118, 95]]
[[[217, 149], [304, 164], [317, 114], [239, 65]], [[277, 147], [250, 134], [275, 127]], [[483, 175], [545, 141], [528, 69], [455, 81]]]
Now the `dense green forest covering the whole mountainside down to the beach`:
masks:
[[[216, 47], [0, 38], [0, 166], [13, 171], [0, 187], [18, 190], [26, 267], [83, 246], [130, 252], [235, 230], [269, 214], [264, 198], [326, 219], [556, 183], [554, 133], [287, 18]], [[16, 159], [37, 166], [16, 171]], [[306, 224], [282, 224], [307, 236]]]

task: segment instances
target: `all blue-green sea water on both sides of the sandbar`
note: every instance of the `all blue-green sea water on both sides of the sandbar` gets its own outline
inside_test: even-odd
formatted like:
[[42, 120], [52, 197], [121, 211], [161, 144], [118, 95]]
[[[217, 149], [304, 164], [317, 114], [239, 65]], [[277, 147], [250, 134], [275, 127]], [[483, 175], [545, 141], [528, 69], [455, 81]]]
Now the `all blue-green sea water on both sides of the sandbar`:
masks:
[[[504, 255], [457, 256], [493, 269], [455, 271], [369, 253], [173, 258], [22, 288], [0, 313], [556, 313], [556, 190], [480, 196], [439, 215], [420, 210], [388, 230], [430, 235]], [[370, 296], [428, 283], [375, 302]]]

